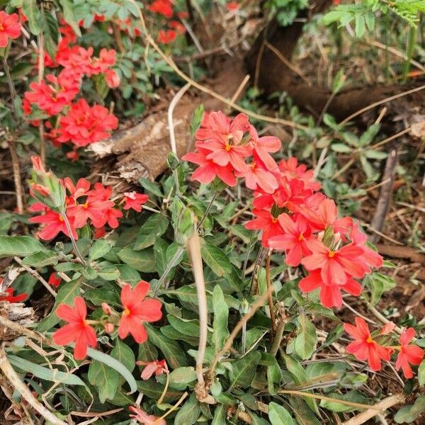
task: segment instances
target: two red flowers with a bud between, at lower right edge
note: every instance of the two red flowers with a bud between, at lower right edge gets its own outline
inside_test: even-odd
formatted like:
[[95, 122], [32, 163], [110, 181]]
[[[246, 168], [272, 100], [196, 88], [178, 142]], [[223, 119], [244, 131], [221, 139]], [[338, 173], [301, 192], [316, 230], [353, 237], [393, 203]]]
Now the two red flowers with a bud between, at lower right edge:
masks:
[[[368, 365], [372, 370], [381, 369], [381, 361], [390, 361], [392, 353], [398, 351], [397, 361], [395, 363], [396, 370], [402, 369], [404, 377], [413, 378], [412, 365], [421, 364], [424, 358], [424, 350], [414, 344], [410, 344], [414, 339], [415, 331], [413, 328], [404, 329], [399, 336], [399, 345], [390, 346], [385, 343], [382, 336], [390, 334], [395, 329], [395, 324], [387, 324], [373, 336], [370, 334], [368, 324], [361, 317], [356, 317], [356, 326], [344, 323], [344, 329], [354, 341], [348, 344], [348, 353], [353, 354], [358, 360], [368, 361]], [[378, 341], [381, 339], [382, 341]]]

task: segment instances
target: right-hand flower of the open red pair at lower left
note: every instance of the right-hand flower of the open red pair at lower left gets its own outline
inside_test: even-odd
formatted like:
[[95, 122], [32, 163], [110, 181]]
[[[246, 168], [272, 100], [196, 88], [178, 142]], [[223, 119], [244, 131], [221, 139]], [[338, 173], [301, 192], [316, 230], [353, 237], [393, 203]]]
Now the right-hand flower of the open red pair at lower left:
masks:
[[127, 283], [121, 290], [121, 304], [124, 307], [118, 331], [121, 339], [130, 333], [137, 343], [142, 344], [147, 340], [143, 323], [161, 319], [161, 302], [144, 300], [148, 291], [149, 283], [145, 280], [140, 280], [134, 289]]

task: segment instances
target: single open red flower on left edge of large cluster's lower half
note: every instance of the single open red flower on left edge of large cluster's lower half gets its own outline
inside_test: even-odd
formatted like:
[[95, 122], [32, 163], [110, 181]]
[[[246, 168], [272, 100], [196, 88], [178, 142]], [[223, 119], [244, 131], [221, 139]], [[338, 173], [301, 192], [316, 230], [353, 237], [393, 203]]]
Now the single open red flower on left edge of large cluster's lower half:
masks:
[[306, 242], [311, 236], [307, 220], [302, 215], [296, 215], [293, 220], [288, 214], [280, 214], [278, 220], [285, 233], [268, 239], [268, 246], [285, 249], [288, 266], [299, 266], [302, 258], [312, 252]]

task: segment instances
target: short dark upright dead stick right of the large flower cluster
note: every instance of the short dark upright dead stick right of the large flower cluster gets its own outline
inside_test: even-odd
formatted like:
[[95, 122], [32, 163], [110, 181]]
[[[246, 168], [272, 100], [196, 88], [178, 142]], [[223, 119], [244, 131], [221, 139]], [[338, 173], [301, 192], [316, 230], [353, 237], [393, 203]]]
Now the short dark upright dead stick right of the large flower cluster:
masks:
[[[387, 157], [384, 175], [382, 176], [382, 181], [387, 181], [387, 183], [381, 186], [375, 214], [373, 215], [372, 222], [370, 222], [370, 227], [377, 230], [378, 232], [380, 232], [384, 226], [385, 215], [387, 215], [388, 205], [390, 205], [392, 186], [394, 185], [395, 179], [395, 164], [397, 164], [397, 149], [393, 148]], [[378, 240], [378, 234], [375, 233], [370, 236], [370, 242], [373, 244], [378, 242]]]

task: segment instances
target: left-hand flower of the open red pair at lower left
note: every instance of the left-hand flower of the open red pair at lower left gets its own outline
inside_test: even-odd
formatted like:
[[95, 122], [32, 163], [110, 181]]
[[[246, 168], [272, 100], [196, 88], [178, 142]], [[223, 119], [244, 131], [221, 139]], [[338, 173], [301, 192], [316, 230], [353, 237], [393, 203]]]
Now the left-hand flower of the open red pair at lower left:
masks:
[[53, 341], [57, 345], [67, 345], [75, 341], [74, 357], [83, 360], [87, 355], [87, 347], [96, 346], [96, 332], [86, 321], [86, 302], [82, 297], [75, 297], [74, 308], [61, 304], [56, 310], [60, 317], [68, 324], [53, 334]]

